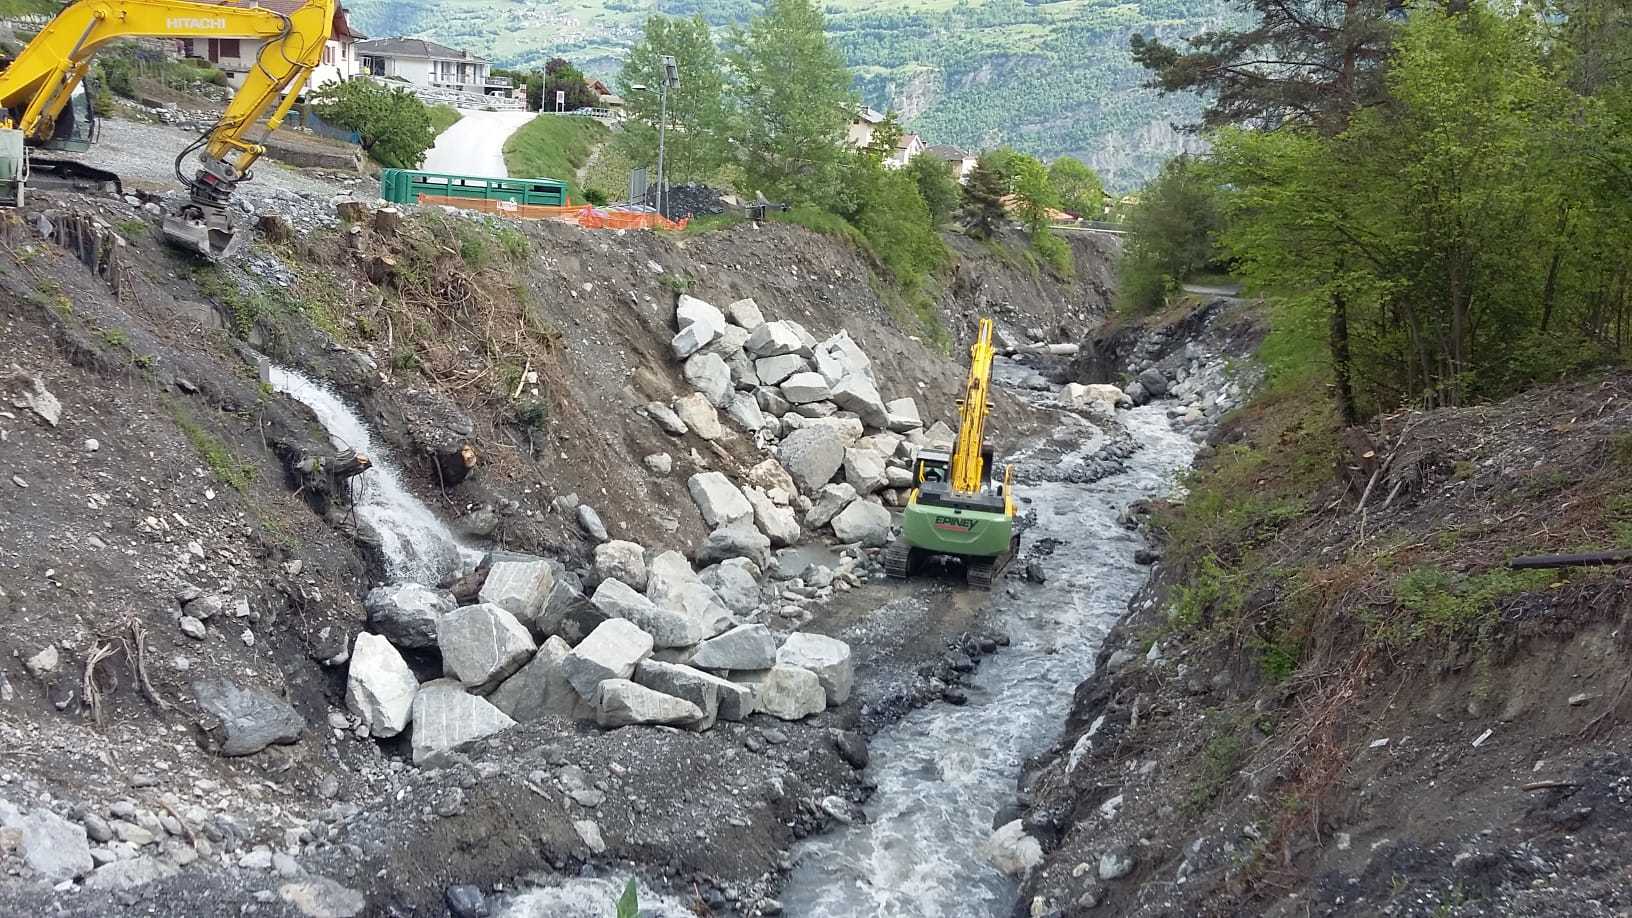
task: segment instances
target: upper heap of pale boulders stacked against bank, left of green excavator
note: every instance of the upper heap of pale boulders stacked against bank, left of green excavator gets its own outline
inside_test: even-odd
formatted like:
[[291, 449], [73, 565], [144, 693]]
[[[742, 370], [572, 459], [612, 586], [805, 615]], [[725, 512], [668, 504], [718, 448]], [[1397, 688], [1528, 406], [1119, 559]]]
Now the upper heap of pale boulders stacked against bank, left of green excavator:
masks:
[[764, 567], [767, 547], [824, 528], [839, 542], [883, 546], [886, 508], [904, 503], [917, 449], [948, 448], [951, 430], [925, 430], [911, 397], [886, 402], [873, 361], [847, 332], [818, 341], [798, 322], [767, 320], [751, 299], [720, 310], [685, 294], [674, 322], [671, 350], [695, 392], [646, 405], [646, 415], [671, 436], [725, 439], [734, 428], [775, 454], [744, 482], [690, 479], [712, 529], [700, 560]]

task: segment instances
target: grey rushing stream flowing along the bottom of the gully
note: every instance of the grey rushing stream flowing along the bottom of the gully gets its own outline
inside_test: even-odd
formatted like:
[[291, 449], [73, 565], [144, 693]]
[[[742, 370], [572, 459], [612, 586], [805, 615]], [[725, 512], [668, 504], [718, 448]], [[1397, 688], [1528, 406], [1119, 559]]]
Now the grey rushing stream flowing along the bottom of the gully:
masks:
[[[1100, 642], [1146, 578], [1134, 565], [1138, 536], [1116, 524], [1134, 498], [1172, 490], [1195, 444], [1162, 407], [1120, 413], [1144, 448], [1128, 470], [1095, 484], [1025, 487], [1036, 524], [1022, 550], [1058, 541], [1048, 583], [1005, 580], [992, 593], [1012, 647], [981, 665], [969, 704], [919, 709], [871, 742], [868, 778], [878, 786], [867, 820], [805, 841], [782, 902], [787, 915], [953, 918], [1009, 915], [1017, 884], [992, 867], [986, 844], [999, 809], [1015, 797], [1027, 756], [1058, 735], [1072, 689], [1093, 668]], [[1054, 439], [1053, 443], [1059, 443]], [[1058, 449], [1018, 456], [1062, 467]], [[1017, 488], [1018, 490], [1018, 488]], [[1013, 583], [1017, 596], [1007, 585]]]

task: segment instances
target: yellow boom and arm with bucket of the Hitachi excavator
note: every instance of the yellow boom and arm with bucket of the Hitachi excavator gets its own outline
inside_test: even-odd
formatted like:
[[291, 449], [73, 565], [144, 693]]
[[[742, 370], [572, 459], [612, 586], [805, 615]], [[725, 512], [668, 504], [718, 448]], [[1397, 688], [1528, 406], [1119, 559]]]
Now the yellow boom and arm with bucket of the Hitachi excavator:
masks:
[[[335, 28], [338, 0], [308, 0], [289, 15], [261, 7], [228, 7], [189, 0], [78, 0], [69, 3], [0, 72], [0, 127], [20, 131], [31, 145], [51, 139], [57, 116], [91, 57], [118, 38], [240, 38], [261, 41], [255, 67], [233, 93], [227, 111], [183, 157], [202, 147], [194, 178], [176, 175], [191, 191], [180, 222], [197, 234], [201, 252], [219, 256], [232, 243], [227, 203], [250, 165], [266, 149], [248, 137], [268, 118], [276, 129], [300, 95], [312, 69], [323, 60], [323, 42]], [[166, 221], [166, 232], [171, 225]], [[181, 232], [186, 232], [183, 229]]]

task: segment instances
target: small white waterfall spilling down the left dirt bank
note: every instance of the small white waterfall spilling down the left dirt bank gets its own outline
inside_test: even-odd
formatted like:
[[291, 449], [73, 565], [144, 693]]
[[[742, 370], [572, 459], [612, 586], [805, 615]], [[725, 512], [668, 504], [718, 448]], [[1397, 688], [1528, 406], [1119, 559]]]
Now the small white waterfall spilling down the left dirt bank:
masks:
[[356, 449], [372, 467], [356, 479], [357, 518], [380, 539], [385, 572], [395, 582], [439, 583], [455, 573], [468, 549], [403, 487], [390, 454], [369, 434], [369, 426], [333, 389], [292, 369], [269, 368], [273, 389], [312, 408], [339, 449]]

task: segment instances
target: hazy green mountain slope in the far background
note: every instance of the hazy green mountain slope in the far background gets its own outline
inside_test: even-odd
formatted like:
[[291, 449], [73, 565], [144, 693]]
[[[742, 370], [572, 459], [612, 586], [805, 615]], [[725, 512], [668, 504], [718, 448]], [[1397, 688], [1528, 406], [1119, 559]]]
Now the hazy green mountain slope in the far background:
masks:
[[[1164, 160], [1200, 147], [1175, 124], [1200, 100], [1146, 88], [1128, 52], [1134, 33], [1180, 39], [1222, 25], [1229, 0], [836, 0], [827, 36], [873, 108], [894, 108], [932, 144], [1010, 145], [1074, 155], [1111, 189], [1142, 185]], [[369, 34], [418, 34], [468, 47], [506, 67], [555, 56], [586, 72], [617, 72], [650, 15], [702, 15], [716, 39], [746, 23], [749, 0], [356, 0]], [[684, 69], [684, 62], [682, 62]]]

